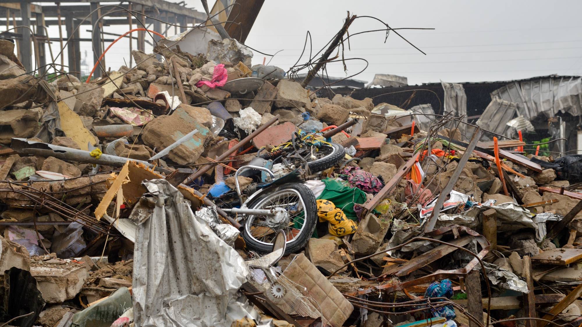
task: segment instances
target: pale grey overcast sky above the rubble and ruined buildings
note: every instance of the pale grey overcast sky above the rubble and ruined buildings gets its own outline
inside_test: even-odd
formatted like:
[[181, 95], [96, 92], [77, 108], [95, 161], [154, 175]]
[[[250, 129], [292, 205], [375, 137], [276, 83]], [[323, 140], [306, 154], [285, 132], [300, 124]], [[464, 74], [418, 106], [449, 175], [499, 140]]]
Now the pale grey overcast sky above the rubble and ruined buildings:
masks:
[[[210, 5], [213, 1], [208, 1]], [[203, 11], [198, 0], [187, 6]], [[351, 51], [345, 58], [364, 58], [369, 62], [355, 79], [371, 81], [375, 73], [408, 77], [409, 84], [439, 80], [496, 81], [548, 74], [582, 74], [582, 1], [283, 1], [267, 0], [254, 23], [246, 44], [270, 56], [255, 53], [253, 64], [267, 57], [271, 65], [287, 70], [299, 55], [310, 31], [313, 50], [319, 51], [343, 24], [346, 12], [374, 16], [392, 28], [423, 27], [435, 30], [401, 30], [423, 55], [395, 33], [384, 42], [384, 32], [350, 38]], [[382, 29], [377, 20], [359, 18], [349, 31]], [[119, 27], [106, 31], [120, 33]], [[173, 34], [173, 28], [170, 30]], [[87, 34], [89, 35], [89, 34]], [[88, 36], [87, 36], [88, 37]], [[134, 45], [135, 48], [135, 45]], [[81, 49], [89, 51], [90, 43]], [[306, 55], [299, 60], [308, 60]], [[113, 45], [106, 60], [116, 69], [126, 62], [129, 44]], [[328, 65], [329, 76], [345, 77], [364, 69], [365, 62], [347, 61]]]

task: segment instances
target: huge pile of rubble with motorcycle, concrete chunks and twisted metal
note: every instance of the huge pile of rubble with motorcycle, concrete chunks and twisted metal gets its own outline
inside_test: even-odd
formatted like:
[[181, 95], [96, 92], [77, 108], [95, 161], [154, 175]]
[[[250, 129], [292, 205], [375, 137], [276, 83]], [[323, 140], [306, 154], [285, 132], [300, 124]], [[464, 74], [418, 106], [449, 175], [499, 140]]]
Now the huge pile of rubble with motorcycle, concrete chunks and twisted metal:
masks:
[[0, 321], [580, 325], [576, 156], [188, 33], [83, 82], [3, 58]]

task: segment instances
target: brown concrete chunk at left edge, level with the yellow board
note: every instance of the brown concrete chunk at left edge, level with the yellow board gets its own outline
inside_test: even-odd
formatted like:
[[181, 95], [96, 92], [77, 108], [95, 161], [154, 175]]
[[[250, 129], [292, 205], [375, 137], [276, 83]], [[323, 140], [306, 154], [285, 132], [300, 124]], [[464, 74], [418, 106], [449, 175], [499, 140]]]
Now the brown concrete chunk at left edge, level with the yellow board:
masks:
[[33, 137], [40, 129], [41, 115], [42, 109], [3, 110], [0, 115], [0, 144], [10, 144], [12, 137]]

